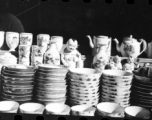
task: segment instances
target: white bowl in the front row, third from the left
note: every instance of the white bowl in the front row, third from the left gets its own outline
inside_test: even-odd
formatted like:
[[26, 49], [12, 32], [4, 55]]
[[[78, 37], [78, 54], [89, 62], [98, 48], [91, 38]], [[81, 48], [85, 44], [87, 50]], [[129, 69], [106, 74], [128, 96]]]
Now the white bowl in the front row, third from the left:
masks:
[[52, 115], [69, 115], [71, 108], [66, 104], [61, 103], [50, 103], [47, 104], [46, 113]]

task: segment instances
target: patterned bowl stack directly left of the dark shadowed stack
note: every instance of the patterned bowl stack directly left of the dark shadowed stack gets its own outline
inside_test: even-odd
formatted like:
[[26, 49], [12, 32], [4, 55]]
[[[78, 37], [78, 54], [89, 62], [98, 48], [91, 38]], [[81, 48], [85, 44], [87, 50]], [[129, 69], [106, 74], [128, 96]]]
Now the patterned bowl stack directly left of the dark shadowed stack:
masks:
[[104, 70], [101, 77], [101, 102], [114, 102], [123, 107], [130, 105], [133, 74], [121, 70]]

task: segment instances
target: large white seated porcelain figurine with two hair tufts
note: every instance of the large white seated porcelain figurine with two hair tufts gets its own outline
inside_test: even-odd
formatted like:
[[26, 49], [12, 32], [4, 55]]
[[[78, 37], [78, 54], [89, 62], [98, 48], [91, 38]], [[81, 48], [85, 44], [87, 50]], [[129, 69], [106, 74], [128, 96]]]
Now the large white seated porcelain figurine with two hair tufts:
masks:
[[77, 40], [69, 39], [66, 43], [65, 49], [61, 53], [61, 61], [63, 65], [69, 68], [82, 68], [83, 61], [81, 60], [81, 54], [77, 50]]

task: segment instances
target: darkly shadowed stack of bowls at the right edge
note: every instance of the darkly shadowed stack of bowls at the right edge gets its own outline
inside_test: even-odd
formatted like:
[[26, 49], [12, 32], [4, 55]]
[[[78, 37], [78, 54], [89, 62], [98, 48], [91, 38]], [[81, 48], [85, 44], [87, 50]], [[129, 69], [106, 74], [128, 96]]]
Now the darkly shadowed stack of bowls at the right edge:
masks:
[[152, 108], [152, 78], [134, 75], [131, 104]]

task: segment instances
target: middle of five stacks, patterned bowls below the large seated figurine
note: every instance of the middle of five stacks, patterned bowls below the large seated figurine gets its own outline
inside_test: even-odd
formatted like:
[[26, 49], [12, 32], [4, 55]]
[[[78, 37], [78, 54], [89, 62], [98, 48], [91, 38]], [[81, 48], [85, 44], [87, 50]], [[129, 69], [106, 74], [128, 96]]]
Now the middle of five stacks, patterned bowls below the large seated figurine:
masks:
[[71, 68], [68, 73], [69, 103], [73, 105], [97, 105], [101, 73], [90, 68]]

